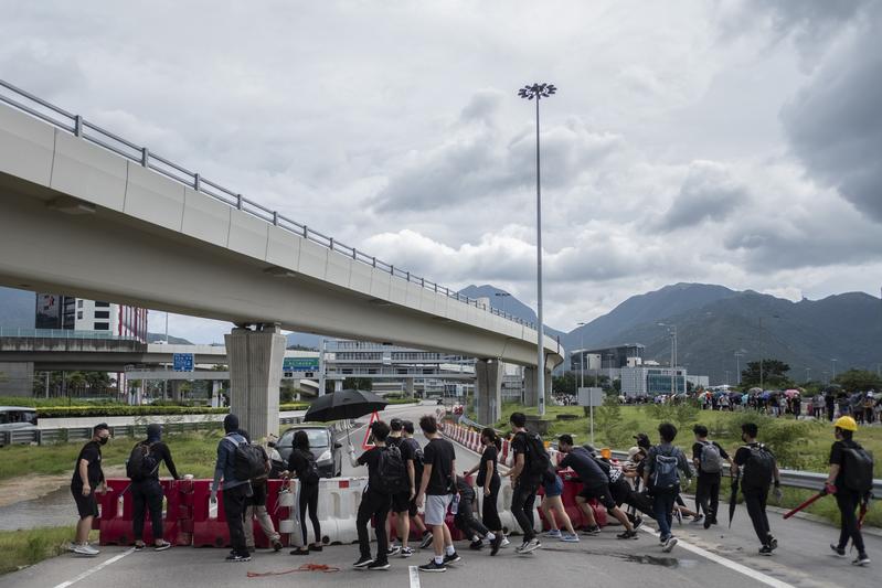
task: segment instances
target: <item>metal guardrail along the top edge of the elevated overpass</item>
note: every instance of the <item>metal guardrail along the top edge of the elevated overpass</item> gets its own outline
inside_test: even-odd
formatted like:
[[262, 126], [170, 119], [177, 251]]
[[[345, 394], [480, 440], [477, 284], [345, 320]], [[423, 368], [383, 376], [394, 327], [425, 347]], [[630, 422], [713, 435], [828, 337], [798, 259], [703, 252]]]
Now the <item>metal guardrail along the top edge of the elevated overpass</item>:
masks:
[[483, 309], [491, 314], [496, 314], [497, 317], [508, 319], [530, 329], [535, 329], [535, 325], [532, 322], [524, 321], [523, 319], [519, 319], [518, 317], [495, 309], [493, 307], [488, 308], [486, 304], [480, 304], [478, 300], [474, 298], [463, 296], [455, 290], [450, 290], [449, 288], [438, 285], [437, 282], [413, 275], [410, 271], [397, 268], [394, 265], [387, 264], [374, 256], [365, 254], [364, 252], [360, 252], [355, 247], [344, 245], [333, 237], [319, 233], [314, 228], [309, 228], [305, 224], [288, 218], [277, 211], [269, 210], [262, 204], [248, 200], [238, 192], [224, 188], [203, 178], [198, 172], [193, 172], [182, 165], [169, 161], [168, 159], [157, 156], [147, 147], [138, 146], [127, 139], [124, 139], [123, 137], [119, 137], [93, 122], [89, 122], [79, 115], [74, 115], [73, 113], [68, 113], [67, 110], [59, 108], [57, 106], [50, 104], [21, 88], [18, 88], [8, 82], [0, 79], [0, 88], [6, 88], [9, 93], [11, 93], [11, 96], [0, 93], [0, 101], [28, 113], [29, 115], [39, 118], [44, 122], [74, 135], [75, 137], [97, 145], [113, 153], [116, 153], [117, 156], [121, 156], [129, 161], [134, 161], [146, 169], [160, 173], [172, 181], [185, 185], [187, 188], [211, 196], [214, 200], [219, 200], [227, 206], [251, 214], [252, 216], [256, 216], [262, 221], [270, 223], [279, 228], [284, 228], [285, 231], [294, 233], [295, 235], [316, 243], [332, 252], [346, 255], [355, 261], [360, 261], [368, 266], [385, 271], [393, 277], [401, 278], [407, 281], [407, 284], [415, 284], [423, 289], [431, 290], [436, 293], [443, 293], [446, 297], [453, 298], [465, 304]]

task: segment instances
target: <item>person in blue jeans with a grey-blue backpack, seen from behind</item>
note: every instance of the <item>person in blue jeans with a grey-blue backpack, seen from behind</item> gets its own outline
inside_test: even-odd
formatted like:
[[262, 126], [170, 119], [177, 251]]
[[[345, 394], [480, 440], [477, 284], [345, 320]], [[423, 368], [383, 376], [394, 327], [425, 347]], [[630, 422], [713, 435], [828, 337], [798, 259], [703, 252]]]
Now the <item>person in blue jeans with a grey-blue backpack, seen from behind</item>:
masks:
[[677, 438], [677, 427], [670, 423], [658, 426], [661, 442], [649, 449], [644, 469], [644, 484], [652, 494], [652, 510], [659, 526], [661, 550], [670, 553], [677, 545], [677, 537], [671, 533], [673, 522], [673, 503], [680, 494], [680, 474], [683, 472], [687, 480], [692, 479], [692, 467], [680, 450], [673, 446]]

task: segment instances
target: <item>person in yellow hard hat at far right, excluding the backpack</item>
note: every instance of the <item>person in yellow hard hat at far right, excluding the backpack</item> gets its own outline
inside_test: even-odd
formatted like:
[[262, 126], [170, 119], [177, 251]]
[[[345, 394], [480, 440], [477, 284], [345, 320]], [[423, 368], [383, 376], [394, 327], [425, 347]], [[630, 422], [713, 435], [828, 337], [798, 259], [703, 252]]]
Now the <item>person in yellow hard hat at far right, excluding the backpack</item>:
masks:
[[[839, 543], [831, 543], [830, 548], [839, 557], [846, 557], [846, 547], [849, 539], [858, 549], [858, 557], [852, 562], [856, 566], [865, 566], [870, 563], [867, 549], [863, 545], [860, 525], [854, 511], [867, 500], [859, 491], [849, 489], [846, 484], [846, 469], [856, 467], [853, 460], [847, 459], [847, 453], [862, 450], [863, 448], [854, 439], [858, 424], [849, 416], [839, 417], [833, 424], [833, 441], [830, 447], [830, 471], [823, 484], [823, 492], [836, 495], [836, 504], [839, 506], [839, 514], [842, 521], [842, 530], [839, 533]], [[850, 461], [850, 462], [849, 462]]]

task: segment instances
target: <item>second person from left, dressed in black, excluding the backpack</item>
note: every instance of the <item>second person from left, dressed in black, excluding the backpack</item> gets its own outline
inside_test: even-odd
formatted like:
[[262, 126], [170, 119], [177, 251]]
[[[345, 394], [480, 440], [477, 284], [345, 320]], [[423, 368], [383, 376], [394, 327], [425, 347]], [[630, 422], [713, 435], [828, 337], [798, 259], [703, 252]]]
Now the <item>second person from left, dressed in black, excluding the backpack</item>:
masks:
[[153, 548], [162, 552], [171, 547], [171, 544], [163, 538], [162, 533], [162, 499], [164, 493], [159, 484], [159, 466], [164, 462], [169, 473], [176, 480], [180, 480], [178, 470], [171, 459], [171, 451], [162, 442], [162, 426], [152, 423], [147, 426], [147, 439], [137, 443], [136, 447], [147, 447], [147, 452], [151, 458], [151, 463], [156, 462], [150, 475], [145, 478], [136, 477], [131, 479], [129, 491], [135, 503], [132, 513], [132, 527], [135, 532], [135, 550], [145, 548], [144, 544], [144, 512], [145, 506], [150, 511], [150, 523], [153, 531]]

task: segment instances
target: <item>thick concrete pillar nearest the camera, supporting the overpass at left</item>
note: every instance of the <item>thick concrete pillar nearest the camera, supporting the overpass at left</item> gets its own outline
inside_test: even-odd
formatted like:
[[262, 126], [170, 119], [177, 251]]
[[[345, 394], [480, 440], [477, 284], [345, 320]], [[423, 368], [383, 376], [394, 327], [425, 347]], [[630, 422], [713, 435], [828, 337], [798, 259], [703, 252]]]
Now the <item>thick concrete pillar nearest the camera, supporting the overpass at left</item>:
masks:
[[278, 391], [287, 340], [276, 325], [235, 328], [224, 335], [230, 361], [230, 411], [252, 439], [278, 431]]

